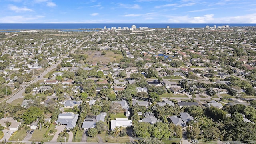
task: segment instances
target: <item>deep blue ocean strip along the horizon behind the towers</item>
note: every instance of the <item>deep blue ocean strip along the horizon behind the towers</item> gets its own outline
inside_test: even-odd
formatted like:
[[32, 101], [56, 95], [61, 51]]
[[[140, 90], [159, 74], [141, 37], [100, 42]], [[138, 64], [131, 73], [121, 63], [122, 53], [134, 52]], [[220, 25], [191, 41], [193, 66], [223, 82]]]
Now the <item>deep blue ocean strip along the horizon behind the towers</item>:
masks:
[[132, 25], [139, 27], [148, 28], [205, 28], [206, 25], [209, 26], [223, 26], [229, 25], [230, 27], [239, 26], [256, 26], [256, 24], [0, 24], [0, 30], [44, 30], [44, 29], [60, 29], [60, 30], [70, 30], [70, 29], [104, 29], [111, 27], [128, 27], [131, 28]]

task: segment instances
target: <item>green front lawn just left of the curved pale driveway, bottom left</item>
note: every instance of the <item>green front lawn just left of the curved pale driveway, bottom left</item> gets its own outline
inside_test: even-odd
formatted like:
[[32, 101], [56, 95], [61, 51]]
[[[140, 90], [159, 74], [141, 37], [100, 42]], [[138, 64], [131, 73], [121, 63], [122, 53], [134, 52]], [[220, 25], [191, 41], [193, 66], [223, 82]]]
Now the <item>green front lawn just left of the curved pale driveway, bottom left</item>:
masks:
[[[50, 129], [53, 130], [54, 132], [57, 132], [57, 130], [55, 130], [55, 125], [53, 124]], [[42, 128], [41, 130], [40, 129], [34, 130], [30, 141], [44, 141], [44, 142], [48, 140], [51, 141], [54, 135], [48, 136], [48, 138], [44, 138], [44, 134], [47, 130], [48, 128]]]

